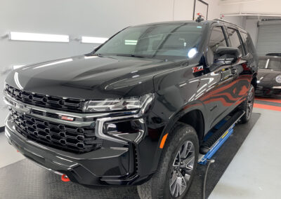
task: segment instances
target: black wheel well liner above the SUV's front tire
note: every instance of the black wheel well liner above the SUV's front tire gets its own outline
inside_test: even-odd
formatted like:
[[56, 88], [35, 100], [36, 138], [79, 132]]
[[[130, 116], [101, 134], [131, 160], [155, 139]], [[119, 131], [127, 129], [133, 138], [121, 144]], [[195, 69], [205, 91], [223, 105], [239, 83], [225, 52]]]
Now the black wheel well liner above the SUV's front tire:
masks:
[[191, 125], [197, 132], [199, 145], [202, 144], [202, 140], [204, 137], [204, 117], [200, 110], [192, 110], [183, 115], [178, 120], [179, 122]]

